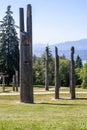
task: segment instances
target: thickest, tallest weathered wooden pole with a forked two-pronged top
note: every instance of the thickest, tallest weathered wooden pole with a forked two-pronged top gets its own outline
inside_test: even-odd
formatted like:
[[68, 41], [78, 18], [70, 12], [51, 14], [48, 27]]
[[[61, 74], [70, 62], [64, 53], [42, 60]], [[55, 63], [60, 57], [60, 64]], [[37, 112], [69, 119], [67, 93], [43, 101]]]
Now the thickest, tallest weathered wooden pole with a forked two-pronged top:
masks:
[[32, 83], [32, 12], [27, 5], [27, 32], [24, 31], [24, 10], [20, 8], [20, 100], [33, 103]]

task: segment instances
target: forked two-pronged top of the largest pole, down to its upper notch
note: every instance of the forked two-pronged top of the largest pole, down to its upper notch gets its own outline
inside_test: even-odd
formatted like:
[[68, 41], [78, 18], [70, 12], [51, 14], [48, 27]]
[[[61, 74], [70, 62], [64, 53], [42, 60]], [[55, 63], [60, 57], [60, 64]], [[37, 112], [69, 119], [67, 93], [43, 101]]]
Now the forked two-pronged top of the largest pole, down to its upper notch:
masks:
[[20, 8], [20, 37], [21, 44], [29, 45], [32, 44], [32, 11], [31, 4], [27, 5], [27, 31], [24, 29], [24, 9]]

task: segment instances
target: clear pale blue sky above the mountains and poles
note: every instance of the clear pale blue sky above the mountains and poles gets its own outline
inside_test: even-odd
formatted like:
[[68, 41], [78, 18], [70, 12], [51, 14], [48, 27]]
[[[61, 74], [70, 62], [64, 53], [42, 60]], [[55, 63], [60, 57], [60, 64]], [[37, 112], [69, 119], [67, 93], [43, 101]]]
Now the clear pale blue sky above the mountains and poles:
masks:
[[87, 0], [3, 0], [0, 20], [11, 5], [19, 25], [19, 8], [32, 5], [33, 43], [54, 44], [87, 38]]

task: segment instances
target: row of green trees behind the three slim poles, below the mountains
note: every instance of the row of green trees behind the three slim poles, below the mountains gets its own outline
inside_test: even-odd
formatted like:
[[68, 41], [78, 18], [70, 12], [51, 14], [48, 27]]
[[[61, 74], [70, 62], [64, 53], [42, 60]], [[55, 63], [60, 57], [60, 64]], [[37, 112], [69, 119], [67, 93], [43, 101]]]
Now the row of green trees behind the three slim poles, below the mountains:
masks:
[[[55, 85], [55, 57], [52, 56], [51, 51], [49, 52], [49, 85]], [[78, 55], [75, 60], [75, 84], [78, 86], [82, 85], [83, 68], [82, 60]], [[69, 87], [70, 60], [64, 55], [59, 57], [59, 75], [61, 86]], [[41, 57], [33, 56], [33, 82], [34, 85], [45, 85], [45, 52]]]

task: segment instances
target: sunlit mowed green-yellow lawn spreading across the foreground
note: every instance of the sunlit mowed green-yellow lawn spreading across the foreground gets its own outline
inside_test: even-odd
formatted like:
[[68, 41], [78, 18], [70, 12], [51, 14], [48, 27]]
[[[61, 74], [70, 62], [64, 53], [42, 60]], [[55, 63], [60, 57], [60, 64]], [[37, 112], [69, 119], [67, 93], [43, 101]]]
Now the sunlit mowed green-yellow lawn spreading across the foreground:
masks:
[[35, 94], [34, 104], [20, 103], [19, 95], [0, 95], [0, 130], [87, 130], [87, 94], [78, 93], [75, 100], [67, 93], [59, 100]]

